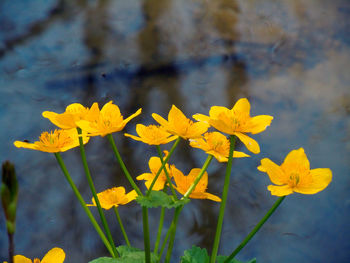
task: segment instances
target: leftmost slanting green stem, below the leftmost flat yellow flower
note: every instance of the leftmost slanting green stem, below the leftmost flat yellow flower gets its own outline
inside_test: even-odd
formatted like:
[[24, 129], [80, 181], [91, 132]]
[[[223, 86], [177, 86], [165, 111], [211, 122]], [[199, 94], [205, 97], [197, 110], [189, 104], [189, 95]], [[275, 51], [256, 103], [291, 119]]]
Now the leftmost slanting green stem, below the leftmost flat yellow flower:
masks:
[[113, 250], [112, 250], [112, 247], [111, 247], [111, 244], [108, 242], [105, 234], [103, 233], [103, 231], [101, 230], [101, 228], [99, 227], [98, 223], [96, 222], [94, 216], [92, 215], [91, 211], [89, 210], [89, 208], [86, 206], [86, 203], [83, 199], [83, 197], [81, 196], [78, 188], [75, 186], [72, 178], [70, 177], [69, 173], [68, 173], [68, 170], [63, 162], [63, 159], [61, 157], [61, 155], [59, 153], [55, 153], [55, 157], [57, 159], [57, 162], [58, 164], [60, 165], [61, 169], [62, 169], [62, 172], [64, 174], [64, 176], [66, 177], [69, 185], [72, 187], [73, 189], [73, 192], [75, 194], [75, 196], [78, 198], [81, 206], [83, 207], [85, 213], [87, 214], [87, 216], [89, 217], [92, 225], [94, 226], [96, 232], [98, 233], [98, 235], [100, 236], [102, 242], [105, 244], [106, 248], [108, 249], [109, 253], [114, 256], [114, 253], [113, 253]]

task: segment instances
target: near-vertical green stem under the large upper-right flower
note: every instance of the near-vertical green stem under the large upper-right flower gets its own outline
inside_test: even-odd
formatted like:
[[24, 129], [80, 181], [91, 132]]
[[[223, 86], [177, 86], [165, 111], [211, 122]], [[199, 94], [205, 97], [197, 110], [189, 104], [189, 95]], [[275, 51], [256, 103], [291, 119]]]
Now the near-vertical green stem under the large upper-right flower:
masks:
[[228, 157], [228, 162], [227, 162], [227, 167], [226, 167], [224, 189], [222, 191], [222, 201], [221, 201], [221, 205], [220, 205], [219, 218], [218, 218], [218, 223], [216, 226], [216, 233], [215, 233], [215, 238], [214, 238], [213, 250], [212, 250], [212, 254], [211, 254], [211, 258], [210, 258], [211, 263], [215, 263], [216, 255], [217, 255], [218, 249], [219, 249], [221, 230], [222, 230], [222, 224], [224, 221], [225, 207], [226, 207], [226, 201], [227, 201], [227, 195], [228, 195], [228, 188], [230, 185], [233, 150], [235, 148], [235, 142], [236, 142], [236, 136], [230, 135], [230, 151], [229, 151], [229, 157]]

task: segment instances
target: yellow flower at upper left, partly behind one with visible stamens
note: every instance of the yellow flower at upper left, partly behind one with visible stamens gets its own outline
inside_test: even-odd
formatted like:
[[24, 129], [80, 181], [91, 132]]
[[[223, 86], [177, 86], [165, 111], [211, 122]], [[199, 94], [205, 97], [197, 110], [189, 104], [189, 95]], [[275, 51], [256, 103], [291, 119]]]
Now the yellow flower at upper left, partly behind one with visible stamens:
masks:
[[76, 122], [84, 119], [88, 112], [89, 108], [79, 103], [73, 103], [67, 106], [66, 111], [61, 114], [52, 111], [44, 111], [42, 115], [61, 129], [72, 129], [77, 127]]

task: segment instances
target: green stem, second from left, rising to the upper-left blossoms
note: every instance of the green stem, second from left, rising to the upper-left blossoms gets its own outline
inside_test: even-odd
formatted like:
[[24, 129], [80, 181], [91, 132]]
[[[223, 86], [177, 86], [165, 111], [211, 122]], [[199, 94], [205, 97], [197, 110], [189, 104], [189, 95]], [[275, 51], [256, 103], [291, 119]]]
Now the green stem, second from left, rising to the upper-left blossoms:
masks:
[[97, 193], [96, 193], [96, 189], [95, 189], [95, 186], [94, 186], [94, 183], [92, 181], [92, 177], [91, 177], [91, 174], [90, 174], [90, 170], [89, 170], [89, 167], [88, 167], [88, 164], [87, 164], [87, 161], [86, 161], [86, 155], [85, 155], [85, 149], [84, 149], [84, 143], [83, 143], [83, 138], [81, 136], [81, 129], [80, 128], [77, 128], [78, 130], [78, 134], [79, 134], [79, 143], [80, 143], [80, 154], [81, 154], [81, 159], [83, 161], [83, 166], [84, 166], [84, 170], [85, 170], [85, 175], [86, 175], [86, 178], [88, 180], [88, 183], [89, 183], [89, 186], [90, 186], [90, 189], [91, 189], [91, 192], [92, 192], [92, 195], [94, 197], [94, 200], [96, 202], [96, 205], [97, 205], [97, 209], [98, 209], [98, 213], [100, 214], [100, 218], [101, 218], [101, 221], [102, 221], [102, 225], [103, 225], [103, 228], [105, 229], [106, 231], [106, 234], [107, 234], [107, 238], [108, 238], [108, 241], [109, 243], [111, 244], [112, 246], [112, 249], [113, 249], [113, 253], [114, 253], [114, 257], [117, 257], [119, 256], [118, 255], [118, 252], [117, 252], [117, 249], [114, 245], [114, 241], [113, 241], [113, 237], [112, 237], [112, 234], [111, 234], [111, 231], [108, 227], [108, 224], [107, 224], [107, 220], [106, 220], [106, 217], [102, 211], [102, 207], [101, 207], [101, 204], [100, 204], [100, 201], [98, 200], [98, 197], [97, 197]]

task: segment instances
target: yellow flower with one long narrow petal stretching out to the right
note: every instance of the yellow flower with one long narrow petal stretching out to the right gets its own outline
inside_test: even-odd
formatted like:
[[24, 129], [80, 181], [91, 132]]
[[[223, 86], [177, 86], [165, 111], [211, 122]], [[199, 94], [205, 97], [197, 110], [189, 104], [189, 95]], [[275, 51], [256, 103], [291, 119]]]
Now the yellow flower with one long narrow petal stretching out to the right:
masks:
[[107, 134], [121, 131], [132, 118], [140, 114], [141, 109], [124, 120], [119, 107], [113, 104], [112, 101], [106, 103], [101, 111], [98, 108], [98, 104], [94, 103], [86, 118], [77, 121], [77, 125], [82, 130], [85, 130], [89, 136], [100, 135], [103, 137]]

